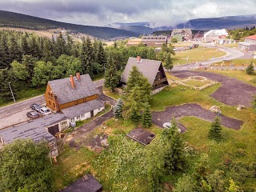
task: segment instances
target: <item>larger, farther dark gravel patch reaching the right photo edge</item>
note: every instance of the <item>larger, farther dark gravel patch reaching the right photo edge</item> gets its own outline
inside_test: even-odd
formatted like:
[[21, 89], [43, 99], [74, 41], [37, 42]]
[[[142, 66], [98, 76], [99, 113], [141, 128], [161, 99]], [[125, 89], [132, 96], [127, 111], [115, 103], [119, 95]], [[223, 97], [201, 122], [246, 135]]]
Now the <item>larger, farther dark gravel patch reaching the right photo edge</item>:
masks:
[[241, 82], [236, 78], [228, 78], [221, 74], [189, 70], [174, 71], [173, 74], [178, 78], [187, 78], [190, 76], [200, 75], [222, 83], [222, 86], [210, 96], [217, 99], [218, 102], [223, 102], [229, 106], [251, 106], [253, 96], [256, 94], [255, 86], [250, 86], [249, 84]]

